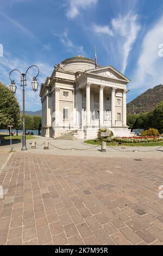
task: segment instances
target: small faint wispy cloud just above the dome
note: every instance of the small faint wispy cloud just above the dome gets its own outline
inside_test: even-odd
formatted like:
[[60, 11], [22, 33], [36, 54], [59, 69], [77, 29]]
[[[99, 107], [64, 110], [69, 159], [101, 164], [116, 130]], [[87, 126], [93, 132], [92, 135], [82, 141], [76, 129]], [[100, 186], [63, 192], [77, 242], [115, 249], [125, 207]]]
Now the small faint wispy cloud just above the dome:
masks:
[[56, 34], [53, 32], [54, 36], [58, 36], [61, 44], [66, 48], [67, 52], [72, 52], [75, 54], [85, 54], [83, 46], [77, 46], [73, 43], [73, 41], [69, 38], [67, 31], [64, 33]]

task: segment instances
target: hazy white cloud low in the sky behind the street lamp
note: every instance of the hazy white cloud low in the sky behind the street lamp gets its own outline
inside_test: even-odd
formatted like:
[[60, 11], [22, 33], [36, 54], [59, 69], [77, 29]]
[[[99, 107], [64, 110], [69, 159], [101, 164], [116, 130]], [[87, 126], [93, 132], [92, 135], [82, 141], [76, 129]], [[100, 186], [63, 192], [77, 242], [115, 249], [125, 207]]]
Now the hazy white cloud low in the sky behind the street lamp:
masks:
[[[27, 68], [33, 63], [27, 62], [26, 59], [20, 59], [12, 57], [9, 53], [5, 53], [4, 57], [0, 58], [0, 81], [7, 84], [10, 84], [9, 72], [13, 69], [18, 69], [21, 72], [26, 72]], [[39, 89], [36, 93], [33, 92], [31, 82], [33, 76], [36, 75], [36, 69], [32, 68], [27, 74], [27, 87], [26, 87], [26, 110], [34, 111], [36, 109], [41, 109], [41, 102], [39, 97], [41, 83], [45, 82], [47, 76], [51, 76], [53, 67], [49, 66], [46, 63], [35, 62], [35, 65], [39, 67], [40, 74], [37, 77], [39, 82]], [[20, 74], [18, 72], [13, 72], [11, 74], [11, 79], [15, 80], [17, 90], [16, 97], [18, 102], [22, 107], [22, 88], [20, 87]]]

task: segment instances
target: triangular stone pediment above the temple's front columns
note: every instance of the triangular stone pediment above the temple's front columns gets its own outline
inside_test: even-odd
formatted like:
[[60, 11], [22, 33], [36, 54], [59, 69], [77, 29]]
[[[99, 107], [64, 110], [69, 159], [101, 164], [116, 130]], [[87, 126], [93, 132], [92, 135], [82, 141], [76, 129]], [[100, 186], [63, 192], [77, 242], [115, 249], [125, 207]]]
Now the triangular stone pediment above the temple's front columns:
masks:
[[86, 73], [130, 82], [129, 78], [121, 74], [120, 71], [116, 70], [112, 66], [104, 66], [102, 68], [87, 70]]

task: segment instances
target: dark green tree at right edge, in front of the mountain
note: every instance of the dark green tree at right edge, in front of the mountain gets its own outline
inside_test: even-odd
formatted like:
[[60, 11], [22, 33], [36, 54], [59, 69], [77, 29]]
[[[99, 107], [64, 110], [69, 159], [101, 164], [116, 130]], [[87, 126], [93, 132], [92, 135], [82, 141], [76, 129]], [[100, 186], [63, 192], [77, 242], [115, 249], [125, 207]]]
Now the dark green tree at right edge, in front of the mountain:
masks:
[[153, 124], [154, 128], [162, 132], [163, 129], [163, 101], [161, 101], [153, 111]]

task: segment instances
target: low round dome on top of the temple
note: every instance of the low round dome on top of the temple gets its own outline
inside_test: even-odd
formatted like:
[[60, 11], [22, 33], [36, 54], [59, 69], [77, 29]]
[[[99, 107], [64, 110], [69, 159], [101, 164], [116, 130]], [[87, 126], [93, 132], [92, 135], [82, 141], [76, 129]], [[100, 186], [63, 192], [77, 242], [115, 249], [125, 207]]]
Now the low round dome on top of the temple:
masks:
[[[74, 73], [95, 69], [95, 60], [80, 55], [65, 59], [61, 63], [64, 64], [64, 70]], [[100, 68], [101, 65], [97, 64], [97, 67]]]

